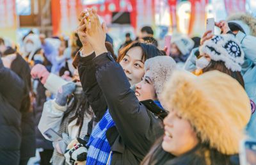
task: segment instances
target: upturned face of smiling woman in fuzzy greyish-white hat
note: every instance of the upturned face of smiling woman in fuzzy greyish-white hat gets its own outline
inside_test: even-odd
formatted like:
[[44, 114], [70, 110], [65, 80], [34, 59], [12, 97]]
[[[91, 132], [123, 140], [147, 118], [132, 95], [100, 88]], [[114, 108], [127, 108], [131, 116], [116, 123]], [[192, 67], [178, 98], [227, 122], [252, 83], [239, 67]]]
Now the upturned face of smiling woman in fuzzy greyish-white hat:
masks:
[[152, 79], [148, 75], [148, 71], [145, 73], [145, 76], [143, 77], [141, 82], [136, 84], [135, 95], [139, 101], [148, 99], [157, 100], [154, 84]]

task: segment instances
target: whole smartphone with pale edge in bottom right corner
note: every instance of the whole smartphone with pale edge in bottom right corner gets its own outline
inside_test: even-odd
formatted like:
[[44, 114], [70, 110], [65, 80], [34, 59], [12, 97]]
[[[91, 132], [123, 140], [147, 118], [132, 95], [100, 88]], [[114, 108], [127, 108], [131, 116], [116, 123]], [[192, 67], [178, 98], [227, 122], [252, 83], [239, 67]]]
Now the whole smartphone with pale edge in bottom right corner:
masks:
[[256, 164], [256, 139], [245, 139], [241, 141], [239, 150], [239, 160], [241, 165]]

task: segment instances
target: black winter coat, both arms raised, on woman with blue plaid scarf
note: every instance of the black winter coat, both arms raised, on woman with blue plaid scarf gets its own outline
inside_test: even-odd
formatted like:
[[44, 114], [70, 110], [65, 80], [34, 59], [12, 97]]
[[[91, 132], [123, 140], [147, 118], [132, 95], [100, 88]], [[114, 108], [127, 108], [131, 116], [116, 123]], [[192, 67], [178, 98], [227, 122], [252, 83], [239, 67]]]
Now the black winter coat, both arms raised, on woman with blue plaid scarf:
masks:
[[111, 164], [140, 164], [163, 135], [162, 121], [138, 101], [123, 68], [109, 52], [81, 58], [79, 75], [97, 118], [100, 120], [108, 107], [116, 123], [107, 131]]

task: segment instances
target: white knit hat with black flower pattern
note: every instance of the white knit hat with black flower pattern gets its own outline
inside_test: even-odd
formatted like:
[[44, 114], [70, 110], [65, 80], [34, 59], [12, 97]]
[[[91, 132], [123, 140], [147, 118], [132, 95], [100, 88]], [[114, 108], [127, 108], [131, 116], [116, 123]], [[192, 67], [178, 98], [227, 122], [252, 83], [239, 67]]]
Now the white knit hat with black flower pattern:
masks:
[[234, 35], [217, 35], [200, 46], [200, 54], [208, 54], [213, 61], [223, 61], [233, 72], [241, 71], [244, 52]]

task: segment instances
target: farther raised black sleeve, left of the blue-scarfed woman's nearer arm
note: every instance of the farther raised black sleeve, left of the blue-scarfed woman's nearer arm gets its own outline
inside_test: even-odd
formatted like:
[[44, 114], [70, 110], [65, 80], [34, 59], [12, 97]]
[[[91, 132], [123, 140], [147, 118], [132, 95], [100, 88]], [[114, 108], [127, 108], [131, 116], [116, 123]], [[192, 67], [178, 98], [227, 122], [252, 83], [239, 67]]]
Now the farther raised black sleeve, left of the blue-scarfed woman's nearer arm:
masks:
[[99, 122], [106, 113], [108, 106], [95, 77], [96, 69], [92, 61], [93, 58], [95, 58], [95, 53], [81, 58], [78, 65], [78, 72], [83, 91], [96, 116], [95, 121]]

